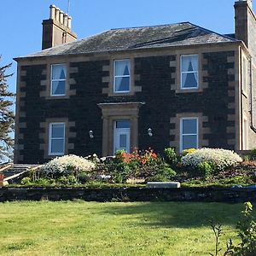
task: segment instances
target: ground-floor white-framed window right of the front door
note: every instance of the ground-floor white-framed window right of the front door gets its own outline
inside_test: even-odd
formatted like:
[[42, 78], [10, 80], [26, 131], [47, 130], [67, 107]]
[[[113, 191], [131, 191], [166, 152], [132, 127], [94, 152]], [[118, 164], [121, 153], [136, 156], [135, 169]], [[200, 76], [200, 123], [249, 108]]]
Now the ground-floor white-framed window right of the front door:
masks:
[[180, 151], [198, 148], [198, 118], [180, 119]]

